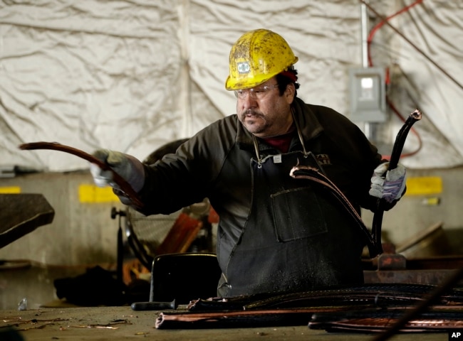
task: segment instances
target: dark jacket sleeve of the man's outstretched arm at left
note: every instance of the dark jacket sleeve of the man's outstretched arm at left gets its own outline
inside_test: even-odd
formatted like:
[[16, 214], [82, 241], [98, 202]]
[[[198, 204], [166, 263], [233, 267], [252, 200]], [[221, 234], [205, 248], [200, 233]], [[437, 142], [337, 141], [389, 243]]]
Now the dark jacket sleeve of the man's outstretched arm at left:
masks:
[[[231, 136], [224, 136], [227, 134]], [[204, 200], [232, 142], [233, 131], [227, 131], [227, 122], [222, 119], [192, 136], [175, 153], [145, 165], [145, 184], [139, 193], [145, 206], [139, 211], [169, 214]]]

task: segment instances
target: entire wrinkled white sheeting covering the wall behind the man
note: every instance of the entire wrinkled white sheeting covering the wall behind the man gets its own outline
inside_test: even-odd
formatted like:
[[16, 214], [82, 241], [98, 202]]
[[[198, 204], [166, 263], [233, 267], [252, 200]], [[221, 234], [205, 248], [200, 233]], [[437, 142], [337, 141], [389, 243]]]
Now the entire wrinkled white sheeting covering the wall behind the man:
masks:
[[[386, 17], [417, 1], [370, 2]], [[373, 65], [390, 69], [397, 112], [424, 115], [405, 145], [416, 153], [402, 163], [462, 165], [463, 1], [418, 2], [389, 23], [421, 53], [384, 25]], [[380, 20], [368, 13], [371, 28]], [[0, 1], [0, 166], [88, 168], [66, 153], [18, 148], [35, 141], [143, 159], [233, 114], [229, 50], [255, 28], [280, 33], [298, 55], [299, 97], [349, 117], [348, 70], [362, 66], [358, 0]], [[381, 131], [391, 145], [402, 122], [387, 115]]]

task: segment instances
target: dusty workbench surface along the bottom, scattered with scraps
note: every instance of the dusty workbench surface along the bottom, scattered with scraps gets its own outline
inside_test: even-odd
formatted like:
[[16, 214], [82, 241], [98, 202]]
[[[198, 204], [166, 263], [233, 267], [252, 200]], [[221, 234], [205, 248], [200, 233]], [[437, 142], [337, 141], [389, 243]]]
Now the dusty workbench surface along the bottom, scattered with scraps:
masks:
[[[311, 330], [307, 325], [264, 328], [211, 328], [158, 330], [159, 311], [134, 311], [130, 306], [92, 308], [41, 308], [37, 310], [0, 310], [0, 340], [12, 326], [26, 341], [45, 340], [279, 340], [279, 341], [363, 341], [373, 334]], [[16, 335], [18, 336], [18, 335]], [[20, 340], [20, 339], [6, 339]], [[447, 332], [402, 333], [390, 340], [447, 341]]]

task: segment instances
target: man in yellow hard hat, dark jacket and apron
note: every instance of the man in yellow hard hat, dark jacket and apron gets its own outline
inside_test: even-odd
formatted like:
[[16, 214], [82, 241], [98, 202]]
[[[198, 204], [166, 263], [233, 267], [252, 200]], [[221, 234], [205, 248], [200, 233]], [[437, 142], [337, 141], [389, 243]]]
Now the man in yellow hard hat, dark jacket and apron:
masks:
[[[290, 176], [296, 164], [326, 175], [358, 212], [375, 210], [378, 197], [388, 210], [405, 191], [402, 166], [372, 179], [387, 165], [355, 124], [297, 97], [297, 61], [278, 34], [244, 33], [231, 48], [225, 85], [236, 94], [236, 114], [153, 165], [115, 151], [94, 154], [128, 180], [145, 215], [209, 197], [220, 218], [219, 296], [363, 283], [363, 232], [323, 185]], [[95, 183], [111, 183], [110, 172], [93, 165], [92, 173]]]

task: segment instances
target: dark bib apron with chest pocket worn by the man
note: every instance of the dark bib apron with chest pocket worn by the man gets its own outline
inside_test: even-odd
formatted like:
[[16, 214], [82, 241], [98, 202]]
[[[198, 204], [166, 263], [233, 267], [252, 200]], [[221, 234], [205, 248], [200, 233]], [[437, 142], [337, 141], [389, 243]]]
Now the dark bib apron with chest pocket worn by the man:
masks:
[[363, 283], [365, 243], [358, 228], [319, 185], [290, 177], [297, 163], [320, 169], [302, 151], [251, 159], [252, 206], [219, 283], [220, 296]]

